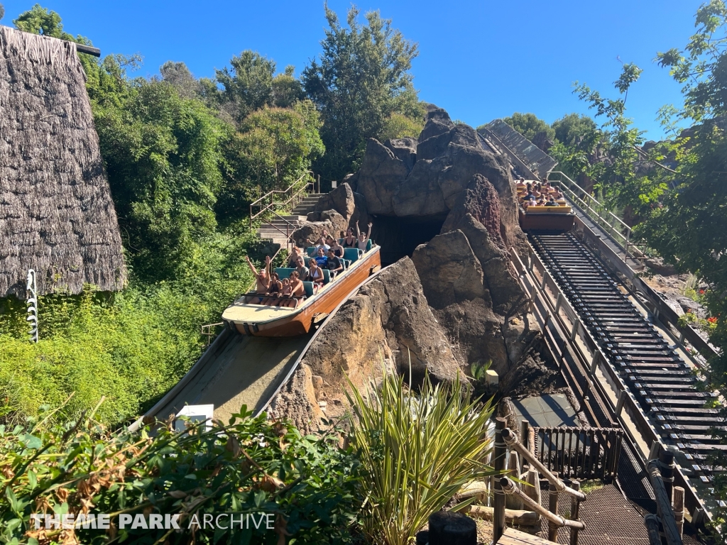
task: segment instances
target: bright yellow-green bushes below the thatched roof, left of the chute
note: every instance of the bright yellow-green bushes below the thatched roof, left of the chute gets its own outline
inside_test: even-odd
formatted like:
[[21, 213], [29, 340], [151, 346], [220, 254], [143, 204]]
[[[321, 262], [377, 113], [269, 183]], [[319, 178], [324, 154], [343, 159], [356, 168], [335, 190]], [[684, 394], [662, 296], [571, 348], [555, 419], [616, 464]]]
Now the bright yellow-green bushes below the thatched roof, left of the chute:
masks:
[[[39, 342], [28, 342], [25, 304], [0, 299], [0, 421], [22, 422], [41, 405], [73, 394], [58, 421], [75, 419], [106, 397], [97, 419], [124, 421], [172, 387], [204, 347], [200, 326], [245, 291], [244, 237], [199, 247], [188, 276], [117, 294], [39, 298]], [[223, 251], [225, 250], [225, 251]]]

